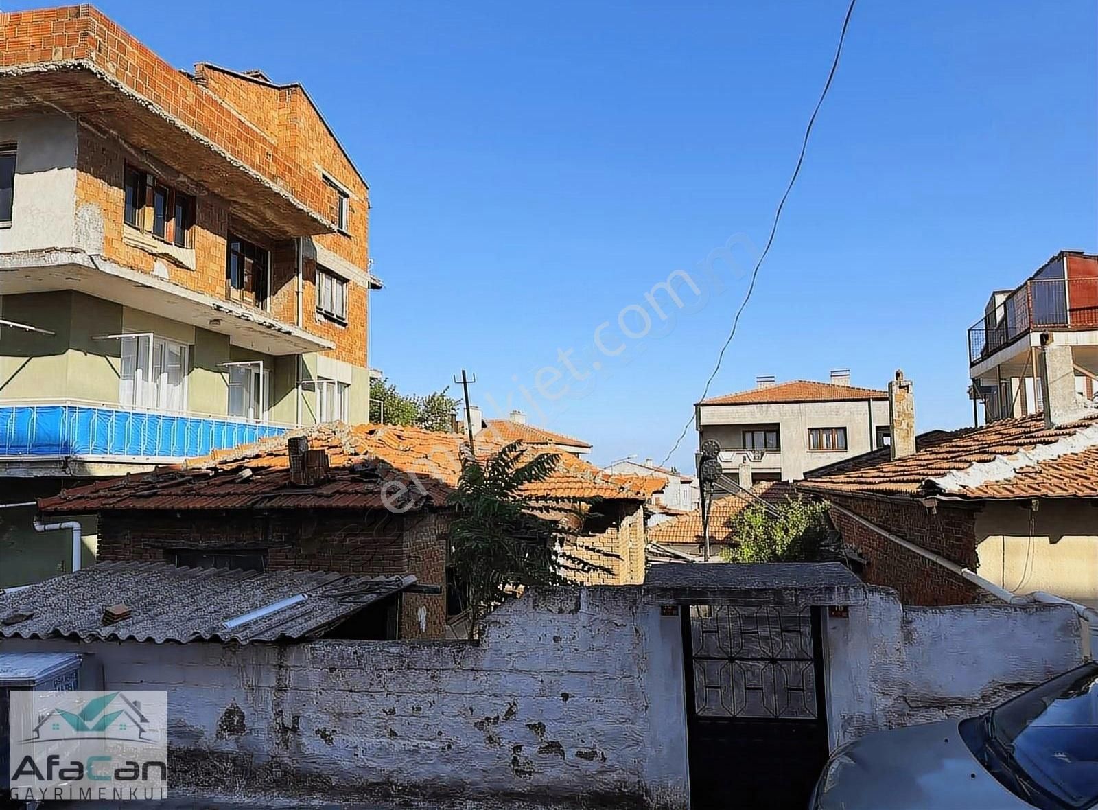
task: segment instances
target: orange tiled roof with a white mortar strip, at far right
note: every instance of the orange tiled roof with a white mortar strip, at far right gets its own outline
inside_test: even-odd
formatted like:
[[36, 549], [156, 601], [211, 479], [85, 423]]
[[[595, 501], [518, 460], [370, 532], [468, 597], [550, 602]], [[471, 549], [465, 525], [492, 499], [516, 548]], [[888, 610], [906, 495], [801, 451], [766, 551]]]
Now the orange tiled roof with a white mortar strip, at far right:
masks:
[[916, 452], [895, 461], [875, 450], [809, 472], [798, 490], [962, 498], [1095, 497], [1098, 414], [1045, 428], [1041, 415], [982, 428], [934, 430], [916, 439]]

